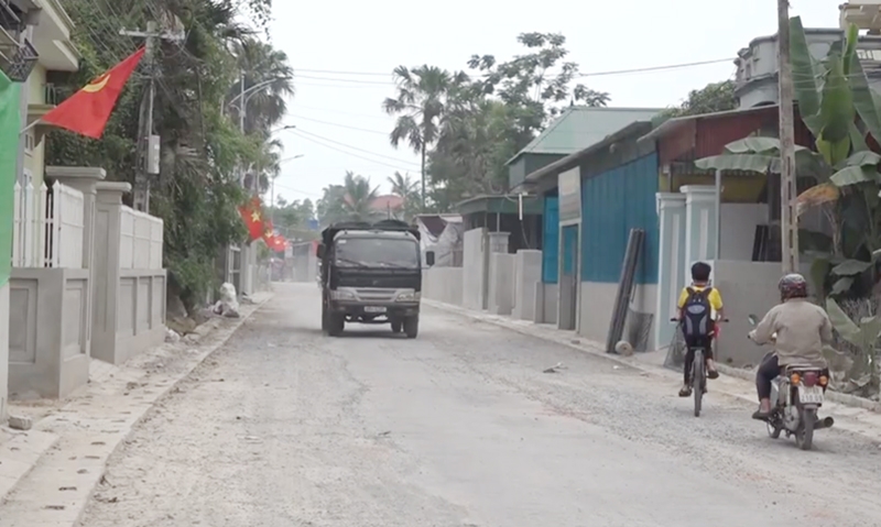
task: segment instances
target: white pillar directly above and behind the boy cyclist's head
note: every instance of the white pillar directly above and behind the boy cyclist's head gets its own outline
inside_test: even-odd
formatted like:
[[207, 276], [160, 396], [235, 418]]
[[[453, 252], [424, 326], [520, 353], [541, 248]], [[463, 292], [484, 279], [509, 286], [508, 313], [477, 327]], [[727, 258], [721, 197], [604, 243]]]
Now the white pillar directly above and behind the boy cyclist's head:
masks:
[[683, 283], [692, 281], [692, 264], [716, 259], [716, 187], [686, 185], [685, 195], [685, 261]]

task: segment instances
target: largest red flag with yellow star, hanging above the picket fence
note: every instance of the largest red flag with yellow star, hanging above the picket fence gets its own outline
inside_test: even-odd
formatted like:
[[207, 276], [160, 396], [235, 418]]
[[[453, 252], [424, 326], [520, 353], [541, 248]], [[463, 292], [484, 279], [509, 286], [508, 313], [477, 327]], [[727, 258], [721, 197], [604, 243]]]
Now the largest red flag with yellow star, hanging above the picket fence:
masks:
[[87, 138], [100, 139], [122, 88], [142, 56], [143, 47], [65, 99], [43, 116], [42, 121]]

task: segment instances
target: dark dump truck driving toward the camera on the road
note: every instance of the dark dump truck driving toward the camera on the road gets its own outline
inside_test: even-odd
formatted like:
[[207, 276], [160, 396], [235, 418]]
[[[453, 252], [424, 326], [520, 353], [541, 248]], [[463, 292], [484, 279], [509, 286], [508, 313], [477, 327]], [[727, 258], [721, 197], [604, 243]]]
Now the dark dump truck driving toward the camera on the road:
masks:
[[337, 337], [346, 323], [388, 323], [393, 332], [416, 338], [422, 297], [417, 228], [396, 220], [334, 224], [322, 232], [318, 260], [325, 333]]

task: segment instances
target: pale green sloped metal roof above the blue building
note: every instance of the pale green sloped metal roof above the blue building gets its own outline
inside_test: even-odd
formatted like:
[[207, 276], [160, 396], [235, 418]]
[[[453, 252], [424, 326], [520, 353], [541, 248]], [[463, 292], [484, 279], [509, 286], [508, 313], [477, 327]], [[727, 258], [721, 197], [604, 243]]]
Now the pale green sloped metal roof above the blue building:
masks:
[[507, 164], [523, 154], [568, 155], [579, 152], [634, 121], [651, 120], [661, 111], [660, 108], [567, 108]]

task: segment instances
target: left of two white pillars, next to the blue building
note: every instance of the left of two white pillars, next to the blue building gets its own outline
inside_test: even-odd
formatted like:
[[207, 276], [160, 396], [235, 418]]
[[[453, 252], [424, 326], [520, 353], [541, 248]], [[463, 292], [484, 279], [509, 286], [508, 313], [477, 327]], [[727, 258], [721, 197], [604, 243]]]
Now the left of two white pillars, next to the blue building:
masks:
[[676, 299], [685, 286], [685, 200], [683, 194], [657, 193], [659, 257], [655, 299], [654, 349], [668, 345], [675, 328], [667, 323], [676, 314]]

